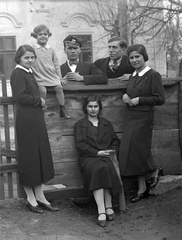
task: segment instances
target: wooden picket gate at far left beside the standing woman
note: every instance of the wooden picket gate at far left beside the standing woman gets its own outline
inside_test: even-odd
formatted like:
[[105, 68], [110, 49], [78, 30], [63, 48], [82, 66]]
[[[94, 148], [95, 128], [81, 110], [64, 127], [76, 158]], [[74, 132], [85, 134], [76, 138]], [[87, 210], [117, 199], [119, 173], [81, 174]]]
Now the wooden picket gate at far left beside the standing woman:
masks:
[[9, 81], [4, 75], [0, 79], [0, 199], [5, 199], [19, 197], [20, 187], [17, 177], [13, 98], [9, 93]]

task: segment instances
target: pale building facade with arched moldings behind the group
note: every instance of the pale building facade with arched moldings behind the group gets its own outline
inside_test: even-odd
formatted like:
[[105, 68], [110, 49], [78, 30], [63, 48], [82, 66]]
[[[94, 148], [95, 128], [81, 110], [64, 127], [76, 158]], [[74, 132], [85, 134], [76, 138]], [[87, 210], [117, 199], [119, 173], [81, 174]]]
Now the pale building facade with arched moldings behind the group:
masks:
[[[63, 39], [68, 34], [82, 39], [81, 58], [94, 61], [108, 55], [110, 35], [88, 13], [85, 0], [1, 0], [0, 1], [0, 75], [10, 76], [14, 68], [14, 53], [22, 44], [32, 44], [34, 27], [45, 24], [52, 36], [49, 44], [56, 50], [60, 64], [66, 60]], [[137, 40], [136, 40], [137, 41]], [[149, 55], [154, 56], [158, 43], [149, 44]], [[149, 65], [166, 74], [165, 53], [150, 58]]]

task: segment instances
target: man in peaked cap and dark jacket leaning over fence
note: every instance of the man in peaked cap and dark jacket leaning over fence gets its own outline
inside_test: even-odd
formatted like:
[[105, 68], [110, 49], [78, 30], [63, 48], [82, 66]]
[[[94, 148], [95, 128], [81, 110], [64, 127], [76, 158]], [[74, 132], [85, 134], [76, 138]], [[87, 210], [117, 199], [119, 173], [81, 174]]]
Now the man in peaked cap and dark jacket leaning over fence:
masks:
[[61, 74], [67, 81], [82, 81], [85, 85], [106, 84], [106, 75], [93, 63], [79, 60], [82, 42], [76, 36], [69, 35], [63, 40], [67, 61], [61, 65]]

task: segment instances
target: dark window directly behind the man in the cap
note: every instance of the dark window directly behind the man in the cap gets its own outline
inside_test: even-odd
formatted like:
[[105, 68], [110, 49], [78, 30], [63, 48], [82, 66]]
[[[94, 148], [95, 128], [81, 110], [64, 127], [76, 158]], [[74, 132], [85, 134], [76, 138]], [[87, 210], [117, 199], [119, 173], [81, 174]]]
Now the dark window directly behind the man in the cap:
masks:
[[92, 62], [92, 35], [75, 35], [82, 41], [82, 52], [80, 60], [85, 62]]

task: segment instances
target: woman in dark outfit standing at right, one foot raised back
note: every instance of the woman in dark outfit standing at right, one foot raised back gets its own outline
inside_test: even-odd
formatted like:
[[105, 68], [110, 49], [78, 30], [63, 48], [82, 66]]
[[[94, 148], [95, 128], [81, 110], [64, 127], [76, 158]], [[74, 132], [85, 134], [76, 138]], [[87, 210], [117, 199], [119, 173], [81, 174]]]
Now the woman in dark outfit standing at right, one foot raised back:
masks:
[[128, 48], [127, 55], [135, 72], [130, 76], [127, 93], [123, 101], [127, 106], [124, 132], [120, 145], [119, 163], [122, 176], [136, 176], [138, 192], [131, 201], [148, 197], [146, 176], [150, 174], [150, 185], [155, 187], [162, 169], [156, 167], [152, 153], [152, 131], [154, 105], [165, 102], [161, 75], [146, 65], [148, 55], [141, 44]]

